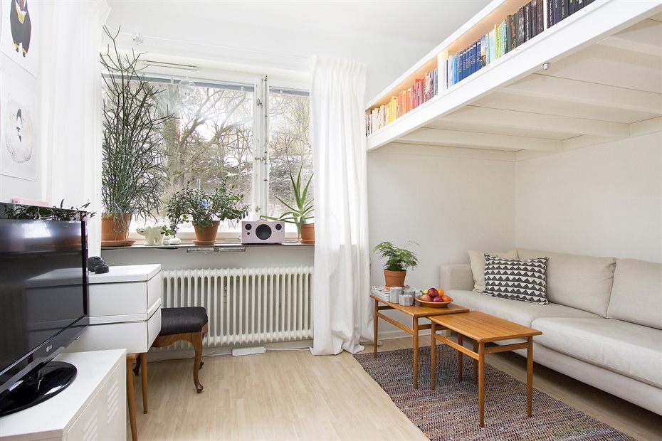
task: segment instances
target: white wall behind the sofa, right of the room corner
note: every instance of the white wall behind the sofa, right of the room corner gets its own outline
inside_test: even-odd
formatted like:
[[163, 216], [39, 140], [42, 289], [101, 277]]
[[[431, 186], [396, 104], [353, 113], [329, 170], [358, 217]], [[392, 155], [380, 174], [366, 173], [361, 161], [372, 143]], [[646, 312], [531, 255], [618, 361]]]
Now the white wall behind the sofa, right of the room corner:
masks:
[[662, 132], [516, 170], [518, 247], [662, 262]]

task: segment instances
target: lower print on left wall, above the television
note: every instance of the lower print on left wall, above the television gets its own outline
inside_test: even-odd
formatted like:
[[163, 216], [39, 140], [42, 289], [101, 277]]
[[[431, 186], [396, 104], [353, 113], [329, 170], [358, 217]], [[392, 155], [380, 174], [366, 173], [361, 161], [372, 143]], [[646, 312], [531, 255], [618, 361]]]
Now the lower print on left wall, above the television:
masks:
[[36, 78], [0, 55], [0, 174], [35, 181], [39, 166]]

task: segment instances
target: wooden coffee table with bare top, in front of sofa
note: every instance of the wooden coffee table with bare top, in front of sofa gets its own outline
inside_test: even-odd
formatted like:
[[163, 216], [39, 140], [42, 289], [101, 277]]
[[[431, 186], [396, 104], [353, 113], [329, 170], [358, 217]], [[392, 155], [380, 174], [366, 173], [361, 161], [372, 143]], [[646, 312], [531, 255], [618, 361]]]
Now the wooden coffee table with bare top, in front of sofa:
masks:
[[[436, 387], [436, 344], [435, 340], [451, 346], [458, 351], [458, 381], [462, 381], [462, 354], [473, 358], [473, 381], [478, 381], [478, 425], [484, 427], [485, 409], [485, 354], [495, 352], [515, 351], [526, 349], [526, 393], [527, 416], [532, 415], [531, 398], [533, 395], [533, 336], [542, 334], [542, 331], [532, 329], [521, 324], [508, 322], [508, 320], [471, 311], [462, 314], [438, 315], [428, 317], [431, 322], [431, 383], [432, 389]], [[444, 336], [436, 334], [438, 329], [451, 329], [458, 334], [458, 342], [451, 341]], [[473, 340], [473, 351], [463, 345], [463, 337]], [[488, 346], [485, 343], [510, 339], [527, 339], [525, 343], [505, 344], [502, 346]]]

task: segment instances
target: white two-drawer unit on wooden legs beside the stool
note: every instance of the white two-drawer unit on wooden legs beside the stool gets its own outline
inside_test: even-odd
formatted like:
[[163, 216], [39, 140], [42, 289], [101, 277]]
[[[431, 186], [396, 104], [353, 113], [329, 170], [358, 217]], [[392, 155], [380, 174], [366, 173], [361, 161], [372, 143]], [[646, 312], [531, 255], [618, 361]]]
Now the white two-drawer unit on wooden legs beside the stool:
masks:
[[147, 352], [161, 331], [161, 265], [114, 266], [89, 281], [90, 326], [67, 351]]

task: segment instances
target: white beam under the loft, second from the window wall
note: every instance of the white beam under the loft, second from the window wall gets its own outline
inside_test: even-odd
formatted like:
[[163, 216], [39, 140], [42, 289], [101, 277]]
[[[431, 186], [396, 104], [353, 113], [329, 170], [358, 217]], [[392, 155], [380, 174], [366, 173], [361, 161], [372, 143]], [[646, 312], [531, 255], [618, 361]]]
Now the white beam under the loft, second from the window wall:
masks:
[[592, 134], [608, 137], [627, 137], [629, 125], [620, 122], [597, 121], [558, 115], [545, 115], [545, 106], [541, 113], [500, 110], [491, 107], [467, 106], [438, 119], [439, 121], [475, 122], [477, 126], [509, 127], [513, 129], [542, 130], [571, 134]]

